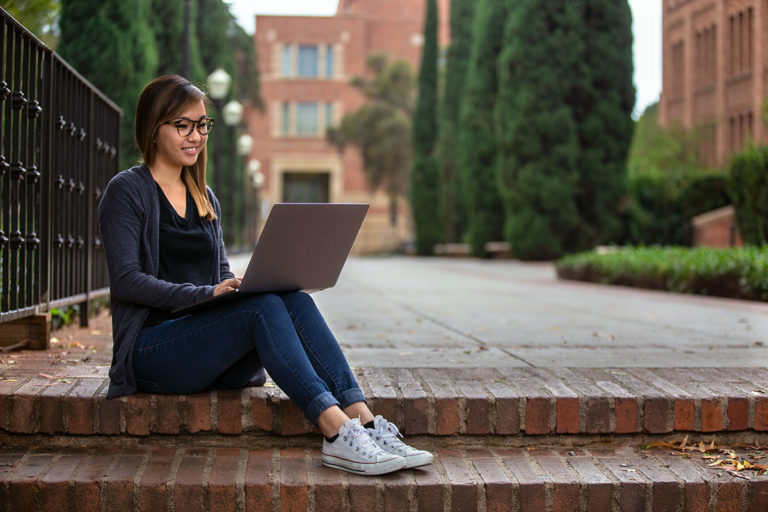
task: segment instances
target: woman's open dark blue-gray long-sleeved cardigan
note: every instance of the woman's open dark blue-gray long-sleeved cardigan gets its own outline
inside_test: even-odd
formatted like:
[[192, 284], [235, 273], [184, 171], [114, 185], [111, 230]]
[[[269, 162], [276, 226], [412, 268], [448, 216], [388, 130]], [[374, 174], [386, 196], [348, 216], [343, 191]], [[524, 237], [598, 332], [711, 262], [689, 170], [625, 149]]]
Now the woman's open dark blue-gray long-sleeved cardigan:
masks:
[[[208, 198], [217, 217], [219, 202], [210, 189]], [[137, 390], [133, 377], [133, 345], [150, 308], [175, 309], [213, 295], [215, 286], [176, 284], [157, 278], [160, 204], [152, 174], [145, 165], [131, 167], [113, 177], [99, 203], [99, 227], [109, 272], [112, 309], [112, 366], [107, 398]], [[211, 275], [221, 282], [234, 277], [224, 252], [219, 219], [210, 223], [215, 240]]]

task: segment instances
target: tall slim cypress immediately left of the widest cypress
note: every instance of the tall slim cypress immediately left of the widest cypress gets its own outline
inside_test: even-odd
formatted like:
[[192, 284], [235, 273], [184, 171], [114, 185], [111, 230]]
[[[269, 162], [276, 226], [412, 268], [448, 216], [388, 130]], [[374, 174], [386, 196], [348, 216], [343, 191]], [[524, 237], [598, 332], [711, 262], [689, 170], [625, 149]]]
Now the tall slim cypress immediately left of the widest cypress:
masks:
[[497, 61], [502, 50], [505, 0], [479, 0], [475, 7], [467, 82], [458, 128], [458, 160], [472, 254], [503, 238], [504, 214], [495, 174], [497, 144], [493, 112], [499, 92]]

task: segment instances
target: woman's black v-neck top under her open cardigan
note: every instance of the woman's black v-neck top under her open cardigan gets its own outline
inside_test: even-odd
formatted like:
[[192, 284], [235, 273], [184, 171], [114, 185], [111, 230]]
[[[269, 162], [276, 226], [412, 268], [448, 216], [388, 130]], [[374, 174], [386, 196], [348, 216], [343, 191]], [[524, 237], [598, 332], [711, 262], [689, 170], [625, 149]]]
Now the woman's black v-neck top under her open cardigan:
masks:
[[[187, 191], [187, 210], [181, 217], [157, 185], [160, 203], [160, 270], [158, 276], [171, 283], [215, 285], [213, 268], [213, 224], [200, 217], [192, 195]], [[144, 326], [170, 318], [167, 311], [153, 309]]]

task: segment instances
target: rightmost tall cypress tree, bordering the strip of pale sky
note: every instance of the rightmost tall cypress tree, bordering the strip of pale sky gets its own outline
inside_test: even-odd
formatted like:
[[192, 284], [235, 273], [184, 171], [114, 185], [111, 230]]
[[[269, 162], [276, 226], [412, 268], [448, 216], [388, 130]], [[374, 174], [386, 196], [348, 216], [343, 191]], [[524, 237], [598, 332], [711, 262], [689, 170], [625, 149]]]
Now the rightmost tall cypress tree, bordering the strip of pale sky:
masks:
[[578, 247], [619, 242], [632, 141], [632, 14], [626, 0], [581, 0], [585, 88], [574, 94], [580, 157]]

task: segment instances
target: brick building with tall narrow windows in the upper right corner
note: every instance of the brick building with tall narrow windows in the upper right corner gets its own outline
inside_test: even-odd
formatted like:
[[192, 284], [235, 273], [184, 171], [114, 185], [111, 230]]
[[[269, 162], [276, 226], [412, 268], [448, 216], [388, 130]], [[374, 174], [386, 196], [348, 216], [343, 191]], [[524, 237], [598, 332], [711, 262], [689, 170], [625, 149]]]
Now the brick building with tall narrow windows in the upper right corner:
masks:
[[768, 3], [663, 0], [662, 9], [660, 124], [696, 128], [710, 165], [768, 140]]

